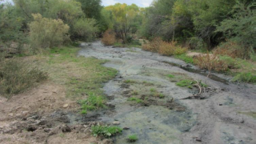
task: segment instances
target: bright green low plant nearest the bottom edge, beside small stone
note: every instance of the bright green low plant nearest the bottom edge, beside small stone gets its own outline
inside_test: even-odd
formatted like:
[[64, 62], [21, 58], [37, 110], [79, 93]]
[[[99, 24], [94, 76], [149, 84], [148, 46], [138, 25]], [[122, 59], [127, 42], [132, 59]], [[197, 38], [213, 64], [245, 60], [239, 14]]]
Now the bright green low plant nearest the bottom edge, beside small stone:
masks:
[[111, 136], [122, 133], [122, 129], [118, 126], [99, 126], [98, 125], [98, 126], [92, 126], [91, 130], [94, 137], [97, 137], [98, 135], [102, 135], [105, 138], [110, 138]]

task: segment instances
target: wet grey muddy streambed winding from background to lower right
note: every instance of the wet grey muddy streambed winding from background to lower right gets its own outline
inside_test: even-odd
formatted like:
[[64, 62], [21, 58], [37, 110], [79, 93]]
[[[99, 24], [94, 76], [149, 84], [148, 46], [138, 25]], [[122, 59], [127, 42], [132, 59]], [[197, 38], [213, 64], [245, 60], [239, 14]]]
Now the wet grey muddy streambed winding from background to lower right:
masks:
[[[129, 134], [138, 134], [137, 143], [143, 144], [256, 143], [256, 86], [226, 85], [183, 70], [178, 66], [186, 63], [180, 60], [137, 48], [112, 48], [100, 42], [82, 46], [79, 55], [107, 59], [105, 66], [119, 71], [118, 77], [104, 87], [114, 109], [91, 114], [98, 115], [99, 122], [118, 121], [129, 128], [115, 138], [115, 143], [126, 143]], [[168, 78], [168, 74], [176, 79]], [[206, 83], [205, 99], [182, 100], [198, 91], [176, 86], [179, 78]]]

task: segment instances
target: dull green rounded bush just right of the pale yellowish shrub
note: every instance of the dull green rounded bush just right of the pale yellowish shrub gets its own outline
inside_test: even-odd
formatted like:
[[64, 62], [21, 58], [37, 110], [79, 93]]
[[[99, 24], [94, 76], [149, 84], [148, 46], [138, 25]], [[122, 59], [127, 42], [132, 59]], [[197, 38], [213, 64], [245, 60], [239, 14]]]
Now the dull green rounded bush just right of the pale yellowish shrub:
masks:
[[97, 22], [94, 18], [80, 18], [74, 22], [74, 37], [86, 42], [94, 40], [98, 32]]

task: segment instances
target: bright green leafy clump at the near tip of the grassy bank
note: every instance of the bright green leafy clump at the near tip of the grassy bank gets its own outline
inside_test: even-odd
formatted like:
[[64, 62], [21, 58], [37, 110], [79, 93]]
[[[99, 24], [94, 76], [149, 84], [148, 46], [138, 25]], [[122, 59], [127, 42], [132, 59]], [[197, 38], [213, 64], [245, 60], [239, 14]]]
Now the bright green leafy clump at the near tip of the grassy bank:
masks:
[[104, 98], [102, 96], [97, 96], [94, 94], [90, 94], [86, 100], [82, 100], [78, 103], [82, 105], [81, 114], [87, 114], [88, 110], [97, 110], [99, 108], [105, 107]]

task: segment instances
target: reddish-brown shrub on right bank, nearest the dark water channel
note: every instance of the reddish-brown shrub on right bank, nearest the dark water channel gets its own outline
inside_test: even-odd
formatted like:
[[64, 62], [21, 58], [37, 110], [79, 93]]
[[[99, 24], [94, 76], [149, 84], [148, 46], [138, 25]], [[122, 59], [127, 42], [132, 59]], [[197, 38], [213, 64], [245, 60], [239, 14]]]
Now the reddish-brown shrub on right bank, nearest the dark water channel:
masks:
[[194, 62], [199, 68], [208, 70], [209, 74], [211, 70], [217, 72], [225, 72], [229, 70], [226, 62], [220, 60], [215, 54], [201, 54], [194, 58]]

